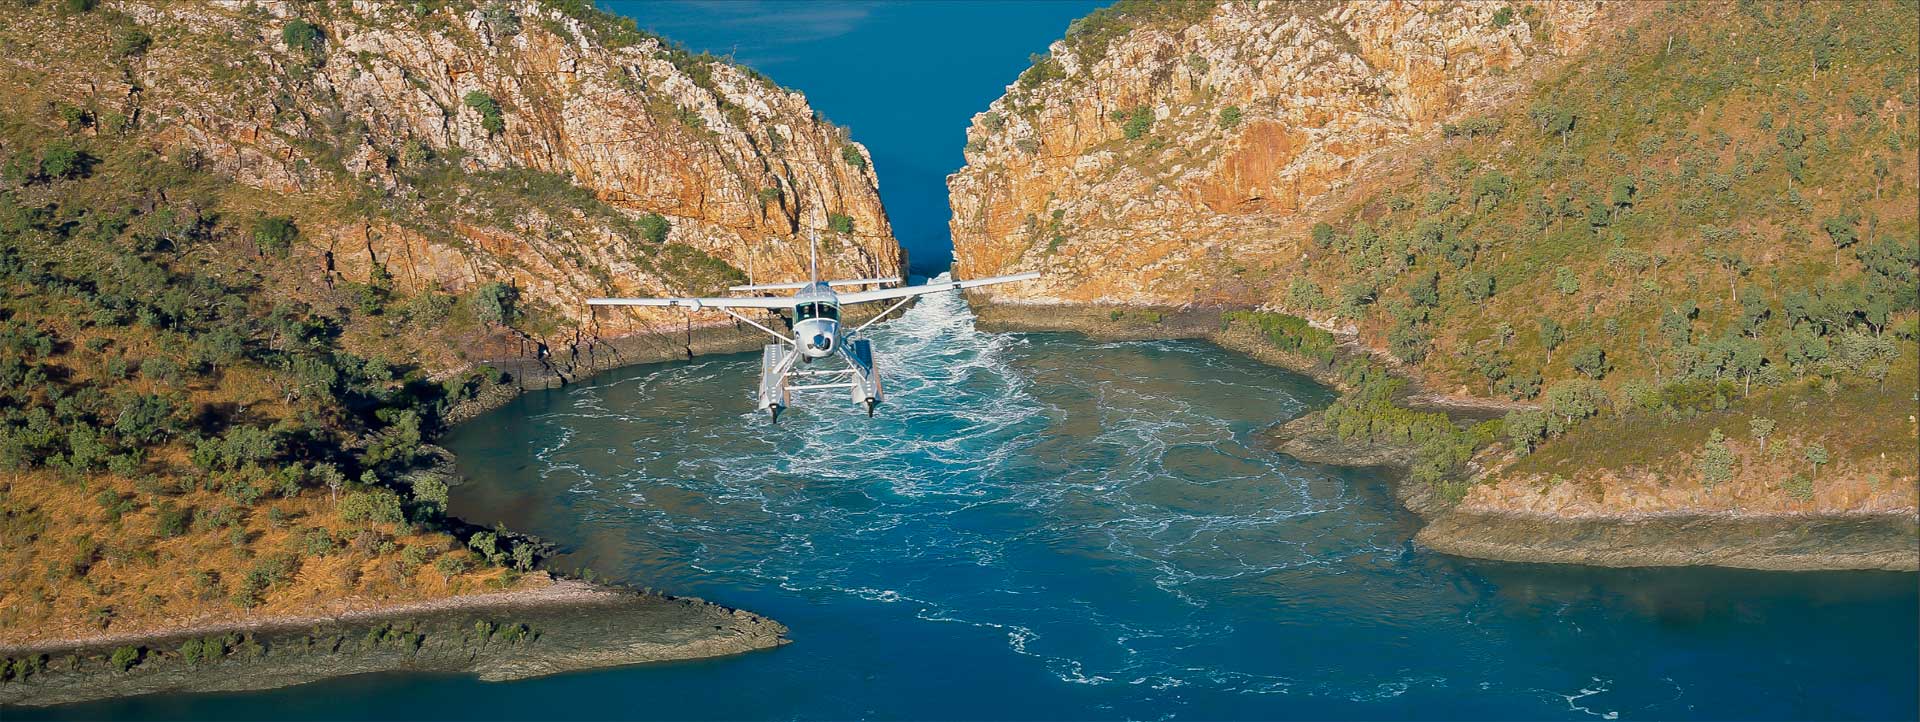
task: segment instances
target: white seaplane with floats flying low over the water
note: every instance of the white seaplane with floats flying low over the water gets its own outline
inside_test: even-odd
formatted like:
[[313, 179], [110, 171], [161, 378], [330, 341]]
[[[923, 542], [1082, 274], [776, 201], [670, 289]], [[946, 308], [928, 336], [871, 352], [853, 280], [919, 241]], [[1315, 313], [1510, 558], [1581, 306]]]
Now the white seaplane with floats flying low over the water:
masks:
[[[895, 286], [872, 290], [847, 290], [851, 286], [885, 286], [902, 282], [891, 278], [845, 278], [820, 280], [820, 234], [812, 236], [806, 282], [747, 284], [730, 286], [730, 292], [778, 292], [791, 290], [793, 296], [737, 296], [737, 298], [589, 298], [588, 305], [655, 305], [684, 307], [691, 311], [724, 311], [741, 323], [755, 326], [774, 344], [760, 351], [760, 390], [758, 411], [768, 413], [768, 421], [780, 422], [780, 413], [793, 405], [793, 392], [845, 388], [852, 403], [866, 405], [866, 415], [887, 397], [879, 365], [874, 361], [874, 344], [860, 338], [860, 332], [899, 311], [906, 301], [927, 294], [958, 292], [991, 284], [1039, 278], [1039, 273], [1016, 273], [1008, 277], [943, 280], [920, 286]], [[841, 309], [860, 303], [895, 301], [858, 326], [841, 325]], [[787, 311], [787, 328], [793, 336], [781, 334], [747, 315], [741, 309]], [[829, 361], [831, 359], [831, 361]], [[833, 367], [837, 361], [837, 367]], [[816, 367], [820, 363], [820, 367]]]

